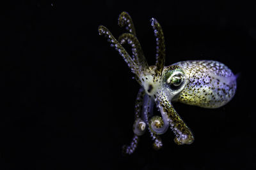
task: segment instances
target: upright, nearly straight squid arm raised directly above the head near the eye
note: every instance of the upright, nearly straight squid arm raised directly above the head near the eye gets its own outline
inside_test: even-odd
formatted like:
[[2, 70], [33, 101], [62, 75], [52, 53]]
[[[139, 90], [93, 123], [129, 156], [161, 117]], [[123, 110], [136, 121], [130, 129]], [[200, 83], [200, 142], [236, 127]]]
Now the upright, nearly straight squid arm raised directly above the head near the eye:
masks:
[[165, 62], [165, 45], [164, 34], [161, 25], [157, 22], [156, 18], [151, 18], [151, 26], [154, 29], [156, 36], [156, 73], [162, 74]]

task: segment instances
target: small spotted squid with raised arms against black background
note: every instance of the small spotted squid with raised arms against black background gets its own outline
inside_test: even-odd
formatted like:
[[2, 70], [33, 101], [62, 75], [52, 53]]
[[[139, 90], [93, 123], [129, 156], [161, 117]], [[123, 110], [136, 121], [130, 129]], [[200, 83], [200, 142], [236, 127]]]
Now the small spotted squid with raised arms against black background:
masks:
[[[164, 66], [164, 34], [156, 18], [150, 19], [156, 37], [156, 65], [148, 66], [136, 38], [134, 24], [127, 12], [120, 14], [118, 25], [125, 27], [127, 31], [118, 39], [103, 25], [99, 26], [99, 34], [108, 39], [110, 46], [122, 56], [134, 73], [135, 80], [141, 85], [135, 103], [134, 137], [130, 145], [123, 146], [124, 153], [133, 153], [140, 136], [146, 131], [157, 150], [163, 146], [160, 135], [169, 128], [174, 133], [174, 142], [177, 145], [193, 143], [193, 133], [172, 103], [220, 108], [234, 97], [237, 76], [225, 64], [214, 60], [186, 60]], [[125, 43], [131, 46], [130, 54], [122, 46]], [[161, 116], [153, 114], [154, 106]]]

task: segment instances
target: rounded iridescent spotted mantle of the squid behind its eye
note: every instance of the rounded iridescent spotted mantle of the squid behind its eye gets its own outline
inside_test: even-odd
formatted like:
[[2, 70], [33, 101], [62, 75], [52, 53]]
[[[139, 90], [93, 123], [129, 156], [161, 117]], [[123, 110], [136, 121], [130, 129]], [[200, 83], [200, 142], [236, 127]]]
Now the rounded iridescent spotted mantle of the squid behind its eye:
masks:
[[177, 62], [188, 76], [177, 101], [203, 108], [219, 108], [236, 92], [236, 76], [227, 66], [214, 60]]

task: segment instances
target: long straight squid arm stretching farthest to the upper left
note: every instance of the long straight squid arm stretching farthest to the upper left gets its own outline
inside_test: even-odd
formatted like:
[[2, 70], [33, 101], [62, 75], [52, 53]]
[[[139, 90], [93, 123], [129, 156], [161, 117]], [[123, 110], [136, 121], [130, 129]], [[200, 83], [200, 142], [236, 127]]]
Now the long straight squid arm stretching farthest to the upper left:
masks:
[[110, 46], [115, 47], [115, 50], [118, 51], [119, 54], [124, 58], [127, 65], [131, 68], [132, 73], [139, 76], [140, 73], [138, 72], [138, 65], [132, 60], [131, 56], [126, 52], [124, 47], [120, 45], [120, 43], [115, 39], [111, 32], [103, 25], [100, 25], [99, 34], [105, 35], [106, 38], [108, 38], [108, 41], [111, 43]]

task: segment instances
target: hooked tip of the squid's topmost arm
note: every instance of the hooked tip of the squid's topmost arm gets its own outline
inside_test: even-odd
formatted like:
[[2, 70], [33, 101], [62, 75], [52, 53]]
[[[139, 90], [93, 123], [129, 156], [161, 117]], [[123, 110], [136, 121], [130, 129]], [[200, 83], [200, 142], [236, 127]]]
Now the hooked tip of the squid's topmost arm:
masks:
[[129, 32], [131, 32], [131, 34], [134, 34], [134, 36], [136, 36], [136, 32], [135, 32], [135, 28], [132, 22], [132, 18], [130, 17], [130, 15], [123, 11], [118, 18], [118, 25], [120, 25], [120, 27], [125, 27], [125, 29]]

